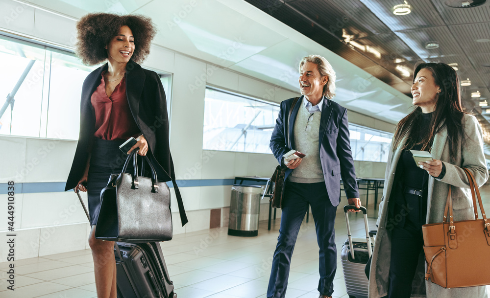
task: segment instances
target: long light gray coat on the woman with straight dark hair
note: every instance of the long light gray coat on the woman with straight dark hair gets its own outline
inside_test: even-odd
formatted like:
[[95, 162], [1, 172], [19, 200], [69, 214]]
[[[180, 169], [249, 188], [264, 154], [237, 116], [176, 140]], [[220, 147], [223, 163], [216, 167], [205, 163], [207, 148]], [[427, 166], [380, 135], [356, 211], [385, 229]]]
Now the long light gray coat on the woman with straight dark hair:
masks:
[[[462, 167], [468, 168], [475, 177], [478, 186], [483, 185], [488, 179], [485, 156], [483, 153], [483, 135], [477, 119], [472, 115], [464, 115], [464, 140], [459, 140], [458, 152], [454, 156], [454, 164], [449, 163], [450, 153], [445, 127], [434, 137], [431, 155], [434, 160], [441, 160], [446, 167], [446, 174], [441, 180], [429, 176], [428, 202], [427, 202], [427, 224], [442, 222], [442, 214], [449, 191], [451, 188], [453, 200], [453, 216], [455, 221], [474, 219], [473, 202], [469, 190], [468, 179]], [[395, 184], [395, 169], [402, 153], [402, 147], [407, 137], [403, 138], [396, 150], [390, 150], [388, 164], [386, 167], [383, 198], [381, 199], [378, 217], [378, 232], [374, 251], [372, 254], [369, 298], [380, 298], [387, 295], [388, 276], [390, 271], [391, 256], [391, 232], [388, 222], [388, 205], [392, 188]], [[393, 144], [392, 144], [393, 145]], [[489, 287], [469, 287], [444, 289], [441, 286], [423, 280], [424, 276], [423, 251], [419, 258], [417, 274], [412, 284], [412, 297], [427, 298], [488, 298]]]

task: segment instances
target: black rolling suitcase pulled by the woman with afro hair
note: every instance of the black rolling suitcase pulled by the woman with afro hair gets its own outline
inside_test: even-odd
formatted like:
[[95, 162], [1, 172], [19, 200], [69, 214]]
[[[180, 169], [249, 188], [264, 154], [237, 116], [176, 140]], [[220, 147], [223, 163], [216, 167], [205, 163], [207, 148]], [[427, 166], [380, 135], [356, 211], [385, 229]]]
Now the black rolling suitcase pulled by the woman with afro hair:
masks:
[[[89, 217], [79, 193], [78, 199]], [[118, 298], [176, 298], [160, 244], [116, 242]]]

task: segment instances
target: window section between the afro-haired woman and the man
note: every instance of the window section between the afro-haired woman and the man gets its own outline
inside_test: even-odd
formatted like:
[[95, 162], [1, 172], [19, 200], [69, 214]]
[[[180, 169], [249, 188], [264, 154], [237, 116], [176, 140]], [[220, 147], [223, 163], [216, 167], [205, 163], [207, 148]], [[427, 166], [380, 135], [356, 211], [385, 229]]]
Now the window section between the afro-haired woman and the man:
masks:
[[202, 148], [270, 153], [279, 105], [206, 88]]

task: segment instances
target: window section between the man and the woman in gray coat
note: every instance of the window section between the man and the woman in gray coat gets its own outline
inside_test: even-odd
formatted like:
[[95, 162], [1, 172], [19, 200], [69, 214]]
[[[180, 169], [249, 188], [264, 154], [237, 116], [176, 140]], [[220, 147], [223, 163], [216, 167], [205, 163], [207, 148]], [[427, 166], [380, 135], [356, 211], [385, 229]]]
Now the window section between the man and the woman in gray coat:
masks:
[[392, 133], [350, 124], [350, 146], [354, 160], [388, 161]]

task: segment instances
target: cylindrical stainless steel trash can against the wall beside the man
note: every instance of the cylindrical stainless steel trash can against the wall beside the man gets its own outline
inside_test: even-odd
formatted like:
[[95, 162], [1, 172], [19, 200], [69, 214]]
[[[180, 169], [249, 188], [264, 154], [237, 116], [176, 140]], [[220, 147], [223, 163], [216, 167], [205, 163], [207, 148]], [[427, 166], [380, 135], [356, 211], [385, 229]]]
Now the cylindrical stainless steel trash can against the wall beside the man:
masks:
[[228, 235], [257, 236], [262, 186], [235, 184], [231, 188]]

